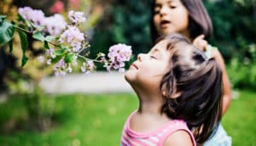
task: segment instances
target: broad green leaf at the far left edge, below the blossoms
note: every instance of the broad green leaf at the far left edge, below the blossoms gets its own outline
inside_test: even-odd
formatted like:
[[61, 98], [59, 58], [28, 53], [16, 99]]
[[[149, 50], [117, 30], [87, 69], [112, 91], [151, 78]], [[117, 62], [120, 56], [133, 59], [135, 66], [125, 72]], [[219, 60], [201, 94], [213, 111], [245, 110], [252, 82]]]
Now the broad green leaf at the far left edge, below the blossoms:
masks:
[[9, 42], [15, 34], [15, 25], [3, 20], [0, 24], [0, 45]]

